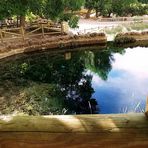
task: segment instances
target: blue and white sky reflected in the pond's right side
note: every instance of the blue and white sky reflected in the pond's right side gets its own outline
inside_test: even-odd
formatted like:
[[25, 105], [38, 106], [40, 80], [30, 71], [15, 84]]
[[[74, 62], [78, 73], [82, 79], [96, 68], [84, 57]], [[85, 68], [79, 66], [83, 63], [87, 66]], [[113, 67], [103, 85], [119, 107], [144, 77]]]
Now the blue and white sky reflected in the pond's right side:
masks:
[[114, 58], [107, 81], [93, 74], [93, 97], [100, 113], [139, 112], [148, 95], [148, 48], [126, 49], [124, 55], [114, 54]]

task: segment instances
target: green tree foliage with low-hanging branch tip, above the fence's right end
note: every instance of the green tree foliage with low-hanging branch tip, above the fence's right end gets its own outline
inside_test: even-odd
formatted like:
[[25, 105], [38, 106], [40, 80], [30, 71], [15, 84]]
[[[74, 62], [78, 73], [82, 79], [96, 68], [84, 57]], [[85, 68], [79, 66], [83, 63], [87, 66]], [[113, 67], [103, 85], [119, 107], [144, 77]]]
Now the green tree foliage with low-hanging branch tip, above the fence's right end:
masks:
[[56, 21], [68, 21], [71, 27], [76, 27], [78, 17], [74, 15], [84, 5], [84, 0], [46, 0], [44, 6], [44, 15]]

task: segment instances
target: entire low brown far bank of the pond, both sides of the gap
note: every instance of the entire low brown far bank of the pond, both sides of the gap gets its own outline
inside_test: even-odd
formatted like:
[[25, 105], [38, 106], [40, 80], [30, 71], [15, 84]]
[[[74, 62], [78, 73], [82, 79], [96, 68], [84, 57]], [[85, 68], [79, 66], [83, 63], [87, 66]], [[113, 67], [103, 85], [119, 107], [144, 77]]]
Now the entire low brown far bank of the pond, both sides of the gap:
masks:
[[[74, 50], [74, 48], [85, 46], [105, 46], [107, 36], [104, 33], [88, 33], [83, 35], [59, 35], [46, 36], [46, 38], [30, 38], [24, 42], [21, 39], [11, 40], [11, 42], [0, 44], [0, 60], [14, 55], [33, 52], [44, 52], [52, 50], [64, 50], [65, 48]], [[126, 32], [116, 35], [114, 41], [115, 46], [134, 47], [148, 46], [148, 31], [145, 32]], [[68, 50], [67, 51], [71, 51]], [[66, 52], [66, 50], [64, 50]]]

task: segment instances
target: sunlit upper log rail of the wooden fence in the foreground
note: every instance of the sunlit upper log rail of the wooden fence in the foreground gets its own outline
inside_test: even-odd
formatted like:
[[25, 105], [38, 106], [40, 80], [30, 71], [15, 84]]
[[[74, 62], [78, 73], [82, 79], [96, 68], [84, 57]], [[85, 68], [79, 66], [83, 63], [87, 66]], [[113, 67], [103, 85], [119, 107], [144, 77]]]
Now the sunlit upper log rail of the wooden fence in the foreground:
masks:
[[144, 114], [116, 116], [1, 117], [0, 131], [46, 131], [51, 133], [98, 133], [148, 130]]

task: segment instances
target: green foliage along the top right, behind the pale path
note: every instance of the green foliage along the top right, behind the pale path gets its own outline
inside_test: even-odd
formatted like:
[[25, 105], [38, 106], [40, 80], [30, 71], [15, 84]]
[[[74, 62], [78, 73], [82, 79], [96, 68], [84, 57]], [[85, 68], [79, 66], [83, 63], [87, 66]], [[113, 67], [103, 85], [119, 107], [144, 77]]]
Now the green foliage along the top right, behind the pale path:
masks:
[[94, 9], [102, 16], [110, 16], [111, 13], [117, 16], [148, 14], [148, 6], [142, 3], [148, 2], [147, 0], [86, 0], [85, 7]]

